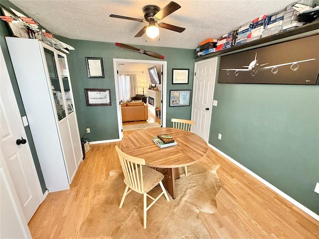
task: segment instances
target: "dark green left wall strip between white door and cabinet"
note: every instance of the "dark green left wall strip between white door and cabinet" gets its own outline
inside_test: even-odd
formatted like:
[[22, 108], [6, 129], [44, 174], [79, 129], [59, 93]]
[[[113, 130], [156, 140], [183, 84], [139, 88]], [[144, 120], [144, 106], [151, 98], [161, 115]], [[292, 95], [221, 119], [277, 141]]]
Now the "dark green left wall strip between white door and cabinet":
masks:
[[[17, 8], [15, 5], [13, 5], [11, 2], [9, 2], [7, 0], [1, 0], [1, 5], [3, 5], [6, 8], [12, 7], [14, 9], [16, 9], [16, 10], [19, 10], [19, 8]], [[23, 11], [21, 11], [21, 12], [23, 12]], [[2, 15], [2, 12], [1, 12], [1, 15]], [[11, 36], [10, 29], [9, 29], [9, 27], [8, 27], [6, 22], [0, 20], [0, 46], [1, 46], [1, 49], [2, 49], [2, 53], [3, 53], [3, 56], [4, 56], [6, 67], [8, 69], [9, 77], [10, 77], [11, 84], [12, 84], [12, 87], [13, 87], [13, 91], [14, 91], [14, 94], [15, 94], [15, 99], [17, 101], [17, 104], [18, 104], [18, 107], [19, 107], [19, 111], [20, 111], [20, 114], [21, 114], [21, 117], [22, 117], [22, 116], [25, 116], [25, 111], [24, 111], [22, 99], [21, 99], [21, 96], [20, 96], [20, 91], [19, 91], [16, 79], [15, 79], [15, 74], [14, 74], [13, 67], [12, 67], [12, 64], [11, 64], [9, 51], [8, 51], [7, 46], [6, 46], [6, 42], [5, 42], [5, 38], [4, 38], [5, 36]], [[42, 189], [42, 192], [44, 193], [46, 191], [46, 186], [45, 186], [45, 183], [44, 183], [43, 174], [42, 174], [42, 171], [41, 171], [41, 168], [40, 168], [38, 156], [37, 156], [36, 151], [35, 151], [35, 147], [34, 147], [32, 135], [31, 135], [30, 127], [29, 126], [25, 126], [24, 130], [25, 130], [25, 133], [26, 133], [26, 136], [27, 136], [27, 142], [28, 142], [28, 144], [30, 146], [30, 149], [31, 149], [31, 154], [32, 154], [32, 158], [33, 158], [33, 161], [34, 161], [36, 172], [37, 172], [37, 175], [38, 175], [38, 178], [39, 178], [39, 181], [40, 181], [41, 189]]]

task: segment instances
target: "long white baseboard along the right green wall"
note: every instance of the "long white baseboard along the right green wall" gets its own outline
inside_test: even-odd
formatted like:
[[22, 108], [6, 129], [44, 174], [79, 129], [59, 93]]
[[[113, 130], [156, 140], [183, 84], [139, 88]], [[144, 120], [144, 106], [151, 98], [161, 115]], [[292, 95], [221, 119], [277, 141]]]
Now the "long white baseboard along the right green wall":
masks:
[[276, 193], [278, 193], [280, 196], [284, 197], [286, 200], [288, 200], [289, 202], [291, 202], [293, 205], [295, 205], [296, 207], [300, 208], [301, 210], [303, 210], [305, 213], [307, 213], [309, 216], [313, 217], [314, 219], [316, 219], [317, 221], [319, 221], [319, 215], [314, 213], [313, 211], [311, 211], [310, 209], [306, 208], [304, 205], [302, 205], [301, 203], [297, 202], [295, 199], [293, 199], [292, 197], [288, 196], [287, 194], [285, 194], [283, 191], [279, 190], [278, 188], [276, 188], [274, 185], [268, 183], [266, 180], [264, 180], [263, 178], [261, 178], [260, 176], [258, 176], [257, 174], [255, 174], [254, 172], [252, 172], [251, 170], [247, 169], [245, 166], [241, 165], [240, 163], [238, 163], [236, 160], [232, 159], [231, 157], [229, 157], [228, 155], [226, 155], [224, 152], [220, 151], [219, 149], [215, 148], [214, 146], [212, 146], [211, 144], [208, 144], [208, 146], [210, 148], [212, 148], [213, 150], [215, 150], [216, 152], [218, 152], [219, 154], [221, 154], [222, 156], [224, 156], [226, 159], [228, 159], [229, 161], [231, 161], [232, 163], [234, 163], [235, 165], [237, 165], [239, 168], [243, 169], [246, 173], [250, 174], [251, 176], [253, 176], [254, 178], [256, 178], [258, 181], [262, 182], [263, 184], [265, 184], [268, 188], [270, 188], [271, 190], [275, 191]]

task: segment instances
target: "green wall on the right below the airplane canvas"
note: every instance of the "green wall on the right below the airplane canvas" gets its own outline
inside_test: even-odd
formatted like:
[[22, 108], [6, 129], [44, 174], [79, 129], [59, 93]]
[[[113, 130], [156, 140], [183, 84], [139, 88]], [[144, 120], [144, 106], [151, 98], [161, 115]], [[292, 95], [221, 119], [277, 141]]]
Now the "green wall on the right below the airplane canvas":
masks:
[[214, 99], [209, 143], [319, 214], [319, 86], [216, 82]]

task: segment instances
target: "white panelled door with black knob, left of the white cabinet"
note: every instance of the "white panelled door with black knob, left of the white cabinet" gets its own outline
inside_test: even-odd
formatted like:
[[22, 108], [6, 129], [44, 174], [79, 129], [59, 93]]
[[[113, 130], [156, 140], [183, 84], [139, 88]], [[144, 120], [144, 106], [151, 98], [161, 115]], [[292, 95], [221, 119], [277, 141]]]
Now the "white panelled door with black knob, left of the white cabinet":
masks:
[[0, 144], [1, 152], [13, 181], [25, 220], [31, 217], [43, 201], [43, 194], [28, 142], [17, 145], [17, 139], [26, 139], [12, 85], [0, 53]]

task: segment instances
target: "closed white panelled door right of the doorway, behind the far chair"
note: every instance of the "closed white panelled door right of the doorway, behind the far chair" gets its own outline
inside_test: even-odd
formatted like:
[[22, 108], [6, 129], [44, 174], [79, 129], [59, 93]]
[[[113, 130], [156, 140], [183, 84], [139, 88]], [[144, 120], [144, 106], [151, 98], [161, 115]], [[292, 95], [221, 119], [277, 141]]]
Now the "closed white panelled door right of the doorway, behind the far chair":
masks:
[[208, 142], [217, 57], [195, 62], [191, 119], [192, 132]]

